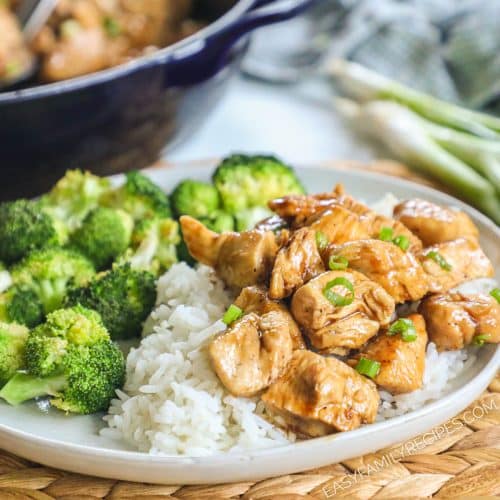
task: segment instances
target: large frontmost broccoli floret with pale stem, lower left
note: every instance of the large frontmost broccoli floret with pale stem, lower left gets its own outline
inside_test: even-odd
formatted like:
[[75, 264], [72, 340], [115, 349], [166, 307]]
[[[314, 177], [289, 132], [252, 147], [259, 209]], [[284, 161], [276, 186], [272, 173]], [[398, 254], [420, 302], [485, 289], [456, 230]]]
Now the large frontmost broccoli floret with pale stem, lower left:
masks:
[[125, 377], [125, 361], [98, 313], [60, 309], [35, 328], [25, 344], [25, 373], [17, 373], [0, 397], [17, 405], [51, 396], [52, 406], [90, 414], [106, 410]]

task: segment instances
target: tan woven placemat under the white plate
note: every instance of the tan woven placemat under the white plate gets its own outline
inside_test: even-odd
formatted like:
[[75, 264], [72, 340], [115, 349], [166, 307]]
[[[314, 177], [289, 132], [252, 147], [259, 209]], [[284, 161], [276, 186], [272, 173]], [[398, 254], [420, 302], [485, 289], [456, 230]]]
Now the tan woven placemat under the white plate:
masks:
[[[431, 184], [394, 162], [365, 168]], [[1, 446], [1, 443], [0, 443]], [[500, 376], [462, 413], [425, 434], [376, 453], [258, 482], [161, 486], [68, 473], [0, 450], [0, 499], [328, 499], [459, 498], [500, 495]]]

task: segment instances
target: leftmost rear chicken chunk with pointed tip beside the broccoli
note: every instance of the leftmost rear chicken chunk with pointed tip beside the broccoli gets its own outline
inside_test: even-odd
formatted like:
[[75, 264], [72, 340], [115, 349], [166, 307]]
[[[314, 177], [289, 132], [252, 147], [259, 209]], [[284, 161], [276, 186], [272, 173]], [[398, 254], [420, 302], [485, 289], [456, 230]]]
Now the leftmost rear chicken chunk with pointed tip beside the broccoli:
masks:
[[182, 216], [180, 223], [191, 256], [213, 267], [228, 286], [244, 288], [269, 277], [278, 252], [272, 231], [218, 234], [192, 217]]

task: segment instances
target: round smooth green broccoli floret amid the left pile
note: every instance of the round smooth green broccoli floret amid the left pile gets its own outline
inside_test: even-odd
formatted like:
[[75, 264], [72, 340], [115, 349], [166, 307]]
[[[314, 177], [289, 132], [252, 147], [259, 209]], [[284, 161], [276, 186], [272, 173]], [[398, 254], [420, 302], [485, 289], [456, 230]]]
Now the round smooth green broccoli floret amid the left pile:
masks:
[[71, 246], [105, 269], [130, 244], [134, 221], [123, 210], [98, 207], [92, 210], [71, 237]]

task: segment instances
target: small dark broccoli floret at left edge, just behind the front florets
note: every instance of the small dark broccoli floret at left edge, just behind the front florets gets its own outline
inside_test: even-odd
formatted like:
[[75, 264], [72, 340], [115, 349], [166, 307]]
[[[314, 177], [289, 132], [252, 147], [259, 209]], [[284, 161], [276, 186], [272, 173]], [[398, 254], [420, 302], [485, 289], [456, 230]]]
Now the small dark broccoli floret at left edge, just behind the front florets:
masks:
[[36, 292], [29, 287], [14, 285], [0, 295], [0, 321], [33, 328], [44, 317], [43, 304]]

